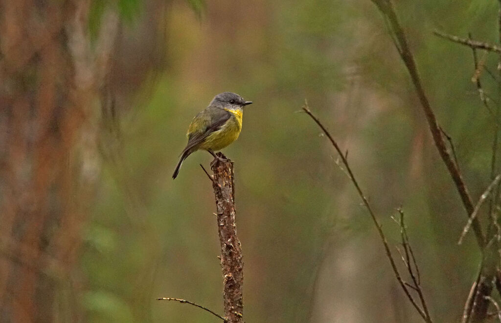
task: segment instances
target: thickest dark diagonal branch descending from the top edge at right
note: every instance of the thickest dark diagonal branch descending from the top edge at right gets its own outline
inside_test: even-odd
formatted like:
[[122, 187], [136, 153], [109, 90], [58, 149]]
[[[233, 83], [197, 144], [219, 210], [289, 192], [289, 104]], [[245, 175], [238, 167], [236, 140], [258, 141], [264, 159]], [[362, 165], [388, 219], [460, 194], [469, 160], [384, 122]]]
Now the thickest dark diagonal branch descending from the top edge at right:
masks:
[[[417, 72], [417, 67], [414, 61], [414, 57], [412, 55], [412, 52], [410, 51], [409, 44], [407, 43], [407, 38], [402, 29], [402, 26], [400, 25], [400, 22], [398, 21], [395, 10], [389, 0], [371, 0], [371, 1], [379, 8], [379, 10], [383, 13], [383, 15], [388, 19], [395, 33], [395, 37], [397, 38], [399, 44], [399, 48], [397, 49], [399, 51], [400, 57], [402, 58], [411, 76], [412, 83], [414, 84], [417, 96], [419, 97], [419, 101], [421, 102], [423, 112], [426, 116], [426, 120], [428, 122], [428, 126], [430, 128], [433, 141], [435, 142], [440, 157], [445, 163], [445, 166], [447, 167], [447, 170], [449, 171], [450, 176], [454, 181], [457, 191], [459, 192], [459, 196], [461, 197], [461, 201], [464, 205], [464, 208], [466, 209], [467, 215], [469, 216], [469, 214], [473, 212], [473, 202], [469, 195], [468, 189], [466, 188], [466, 184], [464, 183], [462, 175], [459, 172], [459, 169], [457, 168], [449, 151], [447, 150], [447, 146], [440, 131], [440, 127], [438, 126], [435, 113], [433, 112], [430, 102], [428, 101], [428, 97], [424, 92], [423, 85], [421, 84], [421, 79], [419, 78], [419, 74]], [[480, 249], [483, 249], [485, 241], [483, 238], [480, 222], [477, 219], [475, 219], [473, 220], [472, 226], [477, 243]]]

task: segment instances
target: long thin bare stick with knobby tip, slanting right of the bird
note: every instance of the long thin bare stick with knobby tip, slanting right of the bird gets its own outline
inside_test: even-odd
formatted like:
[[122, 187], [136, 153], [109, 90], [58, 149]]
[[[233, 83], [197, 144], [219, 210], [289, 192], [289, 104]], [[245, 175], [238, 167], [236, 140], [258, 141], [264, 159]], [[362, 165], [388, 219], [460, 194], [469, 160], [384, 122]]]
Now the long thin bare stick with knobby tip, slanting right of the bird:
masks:
[[395, 263], [395, 260], [393, 259], [393, 256], [391, 254], [390, 247], [388, 246], [388, 241], [386, 240], [386, 236], [384, 235], [383, 229], [381, 228], [381, 224], [379, 224], [378, 220], [376, 219], [376, 215], [375, 215], [374, 211], [372, 210], [372, 207], [370, 206], [369, 201], [367, 200], [367, 197], [365, 197], [364, 193], [362, 192], [362, 189], [358, 185], [358, 181], [355, 179], [355, 175], [353, 174], [353, 172], [351, 170], [351, 167], [350, 167], [350, 165], [348, 163], [348, 160], [346, 159], [346, 156], [343, 154], [343, 152], [339, 148], [339, 145], [334, 140], [334, 138], [331, 136], [331, 134], [329, 133], [329, 131], [327, 131], [327, 129], [324, 127], [324, 125], [320, 122], [320, 120], [315, 115], [312, 114], [312, 112], [310, 111], [310, 108], [308, 106], [308, 102], [306, 102], [306, 101], [305, 101], [305, 105], [303, 106], [303, 110], [315, 121], [315, 123], [317, 123], [317, 125], [322, 129], [322, 131], [329, 138], [329, 140], [331, 141], [332, 145], [334, 146], [334, 148], [338, 152], [339, 156], [341, 157], [341, 160], [342, 160], [343, 164], [346, 167], [346, 171], [348, 172], [349, 177], [350, 177], [353, 185], [357, 189], [358, 195], [362, 199], [362, 201], [363, 201], [363, 203], [365, 205], [365, 208], [367, 208], [367, 210], [369, 211], [369, 214], [370, 214], [370, 216], [372, 218], [372, 221], [374, 222], [374, 225], [376, 226], [376, 229], [377, 229], [377, 231], [379, 233], [379, 237], [381, 238], [381, 241], [383, 242], [383, 246], [384, 246], [384, 249], [385, 249], [385, 252], [386, 252], [386, 256], [388, 257], [388, 260], [390, 261], [391, 268], [393, 269], [393, 273], [395, 274], [395, 277], [397, 278], [398, 282], [400, 283], [400, 286], [404, 290], [404, 293], [407, 296], [407, 298], [410, 300], [410, 302], [412, 303], [412, 305], [414, 306], [414, 308], [416, 308], [416, 310], [418, 311], [419, 315], [421, 315], [421, 317], [426, 322], [431, 323], [432, 320], [431, 320], [431, 317], [430, 317], [430, 315], [428, 313], [427, 308], [423, 307], [423, 309], [421, 309], [419, 307], [419, 305], [416, 303], [416, 301], [414, 300], [414, 298], [412, 298], [412, 295], [410, 294], [409, 289], [407, 289], [407, 286], [406, 286], [405, 282], [403, 281], [402, 277], [400, 276], [400, 273], [398, 272], [398, 268], [397, 268], [397, 265]]

